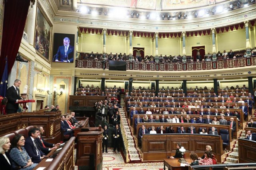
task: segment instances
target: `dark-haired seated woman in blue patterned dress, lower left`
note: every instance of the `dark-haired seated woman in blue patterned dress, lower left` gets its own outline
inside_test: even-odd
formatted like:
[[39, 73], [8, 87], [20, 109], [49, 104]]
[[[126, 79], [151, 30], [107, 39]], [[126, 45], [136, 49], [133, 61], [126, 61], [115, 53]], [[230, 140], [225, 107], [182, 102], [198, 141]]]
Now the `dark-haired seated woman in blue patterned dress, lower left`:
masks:
[[37, 164], [32, 162], [30, 156], [24, 148], [24, 145], [24, 135], [18, 134], [12, 139], [12, 149], [10, 151], [12, 166], [20, 166], [21, 170], [32, 170]]

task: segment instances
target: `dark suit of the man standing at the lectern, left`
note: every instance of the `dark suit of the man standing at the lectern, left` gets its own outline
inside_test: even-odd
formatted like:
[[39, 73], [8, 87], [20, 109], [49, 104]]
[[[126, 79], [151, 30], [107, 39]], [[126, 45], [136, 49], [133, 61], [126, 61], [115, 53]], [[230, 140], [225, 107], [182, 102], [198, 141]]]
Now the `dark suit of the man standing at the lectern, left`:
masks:
[[8, 99], [8, 102], [6, 104], [7, 113], [16, 113], [19, 109], [19, 104], [15, 102], [16, 100], [21, 100], [22, 98], [20, 97], [20, 89], [17, 88], [17, 90], [18, 90], [18, 94], [14, 86], [11, 86], [8, 88], [6, 92], [6, 97]]

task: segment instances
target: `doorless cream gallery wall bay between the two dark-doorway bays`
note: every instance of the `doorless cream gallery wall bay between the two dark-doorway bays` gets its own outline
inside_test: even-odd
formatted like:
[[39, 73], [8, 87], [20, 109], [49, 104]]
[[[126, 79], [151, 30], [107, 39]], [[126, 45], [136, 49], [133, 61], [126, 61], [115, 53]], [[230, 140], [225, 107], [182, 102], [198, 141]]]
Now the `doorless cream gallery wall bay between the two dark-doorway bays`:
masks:
[[180, 38], [158, 38], [158, 55], [179, 55]]

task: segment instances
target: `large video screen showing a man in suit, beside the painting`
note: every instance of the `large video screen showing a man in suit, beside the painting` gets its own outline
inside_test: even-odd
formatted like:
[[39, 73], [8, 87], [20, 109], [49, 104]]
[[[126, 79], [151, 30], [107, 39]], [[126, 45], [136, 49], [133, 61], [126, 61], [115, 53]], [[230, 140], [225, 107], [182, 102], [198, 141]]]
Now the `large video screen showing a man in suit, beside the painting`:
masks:
[[54, 33], [52, 61], [74, 63], [74, 34]]

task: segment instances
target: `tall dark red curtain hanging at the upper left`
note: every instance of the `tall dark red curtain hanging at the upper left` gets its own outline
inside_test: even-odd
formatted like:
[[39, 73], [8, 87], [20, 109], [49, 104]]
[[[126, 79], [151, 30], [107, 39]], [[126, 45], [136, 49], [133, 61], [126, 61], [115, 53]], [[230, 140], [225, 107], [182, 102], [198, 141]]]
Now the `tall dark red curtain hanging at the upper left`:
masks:
[[[0, 63], [8, 57], [8, 72], [12, 70], [24, 31], [30, 0], [8, 0], [4, 6], [4, 23]], [[36, 8], [35, 6], [33, 8]], [[0, 64], [0, 77], [4, 64]]]

